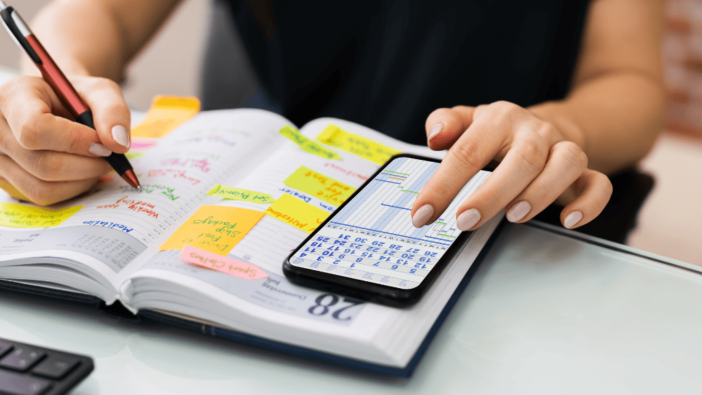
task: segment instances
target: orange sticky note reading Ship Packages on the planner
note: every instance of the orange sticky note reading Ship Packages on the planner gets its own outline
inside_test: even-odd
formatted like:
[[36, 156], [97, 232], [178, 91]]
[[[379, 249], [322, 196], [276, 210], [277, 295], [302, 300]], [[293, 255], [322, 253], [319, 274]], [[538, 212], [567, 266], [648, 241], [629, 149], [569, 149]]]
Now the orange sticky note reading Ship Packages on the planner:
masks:
[[159, 250], [183, 250], [193, 245], [226, 255], [251, 231], [263, 212], [226, 206], [202, 206], [173, 233]]

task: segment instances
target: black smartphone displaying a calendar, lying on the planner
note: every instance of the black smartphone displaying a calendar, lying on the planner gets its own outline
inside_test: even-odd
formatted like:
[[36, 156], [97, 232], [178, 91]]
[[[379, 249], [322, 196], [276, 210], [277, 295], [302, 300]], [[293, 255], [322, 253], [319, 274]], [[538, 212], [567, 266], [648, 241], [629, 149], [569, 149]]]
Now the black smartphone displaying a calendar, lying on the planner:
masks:
[[479, 171], [439, 219], [415, 228], [412, 205], [439, 163], [391, 157], [284, 261], [285, 275], [369, 302], [416, 303], [472, 235], [458, 230], [456, 212], [491, 174]]

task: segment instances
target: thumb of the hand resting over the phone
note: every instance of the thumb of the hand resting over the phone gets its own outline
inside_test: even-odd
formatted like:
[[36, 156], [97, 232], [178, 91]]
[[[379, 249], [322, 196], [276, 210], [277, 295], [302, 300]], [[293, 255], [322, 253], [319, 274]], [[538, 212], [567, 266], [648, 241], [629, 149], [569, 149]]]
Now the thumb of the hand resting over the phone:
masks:
[[429, 148], [438, 151], [451, 147], [473, 122], [474, 111], [475, 107], [467, 105], [434, 110], [425, 123]]

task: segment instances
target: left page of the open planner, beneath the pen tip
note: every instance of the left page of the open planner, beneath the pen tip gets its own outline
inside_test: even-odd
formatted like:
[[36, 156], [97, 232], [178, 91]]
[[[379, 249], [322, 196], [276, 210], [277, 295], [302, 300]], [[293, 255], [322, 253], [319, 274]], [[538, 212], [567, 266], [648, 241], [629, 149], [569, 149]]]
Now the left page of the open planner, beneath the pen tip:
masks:
[[263, 110], [212, 111], [164, 138], [134, 139], [128, 157], [142, 192], [112, 173], [59, 207], [0, 203], [0, 259], [72, 259], [117, 286], [133, 261], [155, 253], [208, 200], [219, 200], [208, 189], [249, 173], [282, 143], [278, 130], [288, 123]]

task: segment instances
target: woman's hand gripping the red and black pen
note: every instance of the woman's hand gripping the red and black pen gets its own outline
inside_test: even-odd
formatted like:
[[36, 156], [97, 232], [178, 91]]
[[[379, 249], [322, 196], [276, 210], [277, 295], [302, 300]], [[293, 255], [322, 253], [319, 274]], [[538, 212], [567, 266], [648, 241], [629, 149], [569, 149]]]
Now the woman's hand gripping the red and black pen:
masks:
[[69, 79], [97, 130], [74, 122], [41, 77], [0, 86], [0, 187], [13, 197], [51, 205], [80, 195], [112, 171], [103, 157], [129, 149], [131, 115], [119, 86], [98, 77]]

